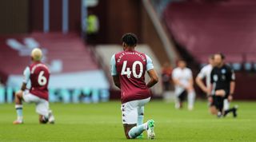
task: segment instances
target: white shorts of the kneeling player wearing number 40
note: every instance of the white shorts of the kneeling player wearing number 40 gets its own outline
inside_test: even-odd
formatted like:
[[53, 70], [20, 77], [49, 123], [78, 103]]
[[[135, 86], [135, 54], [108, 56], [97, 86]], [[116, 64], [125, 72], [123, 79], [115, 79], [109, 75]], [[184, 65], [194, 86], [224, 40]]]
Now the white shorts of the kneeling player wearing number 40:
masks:
[[137, 124], [138, 109], [146, 105], [149, 101], [150, 97], [142, 100], [128, 101], [122, 104], [122, 124]]

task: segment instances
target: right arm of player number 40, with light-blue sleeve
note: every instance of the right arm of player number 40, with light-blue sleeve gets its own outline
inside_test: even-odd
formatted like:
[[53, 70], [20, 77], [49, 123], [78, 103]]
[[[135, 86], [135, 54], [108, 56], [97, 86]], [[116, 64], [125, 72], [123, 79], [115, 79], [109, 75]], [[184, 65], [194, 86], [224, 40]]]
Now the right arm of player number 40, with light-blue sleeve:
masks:
[[150, 76], [150, 81], [146, 84], [148, 88], [158, 83], [158, 74], [154, 70], [153, 61], [146, 55], [146, 71]]

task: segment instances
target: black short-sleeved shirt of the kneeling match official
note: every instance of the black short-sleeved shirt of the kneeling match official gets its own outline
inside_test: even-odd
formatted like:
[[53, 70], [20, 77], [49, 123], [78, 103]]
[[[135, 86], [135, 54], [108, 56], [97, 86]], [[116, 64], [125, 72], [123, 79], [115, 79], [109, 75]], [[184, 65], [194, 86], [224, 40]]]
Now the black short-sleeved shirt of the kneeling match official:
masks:
[[210, 83], [214, 91], [224, 89], [230, 92], [230, 82], [235, 80], [234, 70], [229, 65], [222, 65], [221, 68], [214, 67], [210, 73]]

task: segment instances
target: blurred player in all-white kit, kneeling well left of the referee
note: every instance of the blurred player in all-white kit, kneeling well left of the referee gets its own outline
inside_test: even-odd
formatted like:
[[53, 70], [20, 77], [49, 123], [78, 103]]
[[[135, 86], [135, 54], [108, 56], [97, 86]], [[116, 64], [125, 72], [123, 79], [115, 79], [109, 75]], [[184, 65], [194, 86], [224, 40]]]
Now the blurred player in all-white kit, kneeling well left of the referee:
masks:
[[172, 78], [175, 85], [175, 108], [182, 108], [182, 102], [186, 94], [188, 98], [188, 109], [194, 108], [194, 81], [191, 69], [186, 67], [186, 61], [178, 61], [178, 67], [174, 69]]

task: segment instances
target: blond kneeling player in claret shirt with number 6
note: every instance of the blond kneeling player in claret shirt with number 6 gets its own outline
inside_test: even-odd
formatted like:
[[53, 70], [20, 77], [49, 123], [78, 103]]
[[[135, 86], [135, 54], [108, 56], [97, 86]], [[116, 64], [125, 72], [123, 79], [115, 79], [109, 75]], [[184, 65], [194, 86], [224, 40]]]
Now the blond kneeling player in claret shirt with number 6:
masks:
[[[54, 116], [49, 110], [48, 102], [48, 83], [50, 71], [48, 67], [41, 62], [42, 50], [33, 49], [31, 52], [32, 64], [27, 66], [24, 70], [24, 78], [22, 88], [15, 93], [15, 108], [17, 112], [17, 120], [13, 124], [22, 124], [22, 101], [27, 103], [35, 103], [36, 112], [39, 114], [39, 123], [46, 124], [48, 121], [54, 124]], [[31, 82], [30, 90], [26, 89], [28, 81]]]

